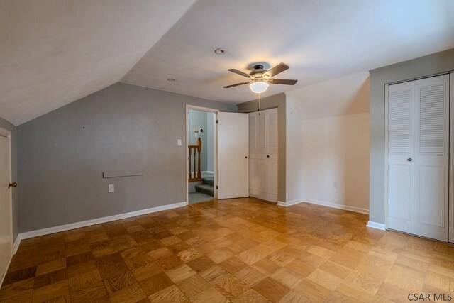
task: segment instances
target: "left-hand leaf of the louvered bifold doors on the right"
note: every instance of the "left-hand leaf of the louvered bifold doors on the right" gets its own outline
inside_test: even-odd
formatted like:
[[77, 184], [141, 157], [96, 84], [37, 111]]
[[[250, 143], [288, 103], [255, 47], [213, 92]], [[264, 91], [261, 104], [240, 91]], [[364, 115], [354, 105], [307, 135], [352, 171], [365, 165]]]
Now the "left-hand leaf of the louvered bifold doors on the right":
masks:
[[387, 228], [414, 233], [414, 82], [389, 85]]

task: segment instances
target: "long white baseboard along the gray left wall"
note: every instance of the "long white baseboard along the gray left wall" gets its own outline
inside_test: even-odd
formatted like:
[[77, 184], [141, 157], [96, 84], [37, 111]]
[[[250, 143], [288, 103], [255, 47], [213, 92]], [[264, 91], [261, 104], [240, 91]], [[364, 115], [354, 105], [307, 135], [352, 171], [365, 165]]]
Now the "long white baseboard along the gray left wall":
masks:
[[59, 233], [60, 231], [69, 231], [70, 229], [74, 229], [74, 228], [81, 228], [81, 227], [86, 227], [86, 226], [95, 225], [95, 224], [102, 224], [102, 223], [106, 223], [106, 222], [110, 222], [110, 221], [127, 219], [127, 218], [131, 218], [133, 216], [140, 216], [143, 214], [151, 214], [151, 213], [154, 213], [157, 211], [165, 211], [167, 209], [177, 209], [179, 207], [187, 206], [187, 204], [188, 204], [187, 202], [179, 202], [179, 203], [174, 203], [174, 204], [169, 204], [169, 205], [156, 206], [156, 207], [152, 207], [150, 209], [142, 209], [140, 211], [131, 211], [131, 212], [128, 212], [125, 214], [116, 214], [114, 216], [104, 216], [104, 217], [98, 218], [98, 219], [92, 219], [92, 220], [87, 220], [87, 221], [71, 223], [71, 224], [54, 226], [54, 227], [50, 227], [50, 228], [43, 228], [43, 229], [38, 229], [37, 231], [27, 231], [25, 233], [19, 233], [16, 238], [16, 242], [14, 243], [14, 246], [13, 246], [13, 254], [16, 254], [17, 249], [18, 249], [19, 245], [21, 244], [21, 240], [24, 240], [24, 239], [45, 236], [50, 233]]

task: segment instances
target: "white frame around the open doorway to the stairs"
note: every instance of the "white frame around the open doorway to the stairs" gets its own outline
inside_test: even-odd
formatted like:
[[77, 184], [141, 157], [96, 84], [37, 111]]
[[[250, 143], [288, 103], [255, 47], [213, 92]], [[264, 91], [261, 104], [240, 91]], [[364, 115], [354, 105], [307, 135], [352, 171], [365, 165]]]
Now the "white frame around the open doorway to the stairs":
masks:
[[193, 109], [195, 111], [206, 111], [206, 112], [209, 112], [209, 113], [213, 113], [214, 114], [214, 123], [213, 123], [213, 126], [214, 126], [214, 133], [213, 133], [213, 169], [214, 169], [214, 174], [213, 174], [213, 177], [214, 177], [214, 199], [218, 199], [218, 189], [216, 189], [216, 185], [218, 184], [218, 124], [216, 123], [216, 121], [218, 120], [218, 112], [219, 110], [218, 109], [211, 109], [209, 107], [203, 107], [203, 106], [196, 106], [196, 105], [191, 105], [191, 104], [186, 104], [186, 138], [185, 138], [185, 144], [184, 144], [184, 148], [185, 148], [185, 152], [184, 152], [184, 155], [186, 155], [186, 165], [185, 165], [185, 173], [184, 173], [184, 177], [185, 177], [185, 182], [186, 182], [186, 205], [189, 205], [189, 180], [188, 180], [188, 177], [187, 177], [187, 172], [188, 172], [188, 165], [189, 165], [189, 151], [188, 151], [188, 148], [187, 148], [187, 145], [189, 143], [189, 109]]

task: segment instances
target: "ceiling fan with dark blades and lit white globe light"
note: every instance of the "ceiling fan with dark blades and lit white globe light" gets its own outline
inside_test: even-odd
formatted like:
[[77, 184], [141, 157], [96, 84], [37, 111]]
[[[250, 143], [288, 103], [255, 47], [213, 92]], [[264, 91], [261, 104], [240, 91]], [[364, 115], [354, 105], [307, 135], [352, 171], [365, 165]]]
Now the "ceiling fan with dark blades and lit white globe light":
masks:
[[284, 72], [284, 70], [288, 70], [289, 68], [290, 68], [289, 65], [286, 65], [285, 63], [279, 63], [275, 67], [270, 68], [270, 70], [265, 70], [263, 68], [263, 65], [258, 64], [254, 65], [254, 69], [249, 74], [231, 68], [230, 70], [228, 70], [229, 72], [234, 72], [243, 77], [247, 77], [250, 79], [250, 81], [227, 85], [224, 88], [229, 89], [231, 87], [238, 87], [240, 85], [249, 84], [249, 88], [251, 91], [260, 94], [267, 90], [268, 84], [294, 85], [298, 82], [298, 80], [272, 79], [272, 77], [274, 77], [275, 75]]

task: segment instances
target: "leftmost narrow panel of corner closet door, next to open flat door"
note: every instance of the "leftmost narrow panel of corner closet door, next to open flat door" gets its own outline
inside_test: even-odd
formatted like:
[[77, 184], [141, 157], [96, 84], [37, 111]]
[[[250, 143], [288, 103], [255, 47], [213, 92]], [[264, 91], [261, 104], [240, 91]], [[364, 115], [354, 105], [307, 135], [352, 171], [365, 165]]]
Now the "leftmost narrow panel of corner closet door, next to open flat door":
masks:
[[258, 112], [249, 114], [249, 195], [258, 196], [257, 175]]

